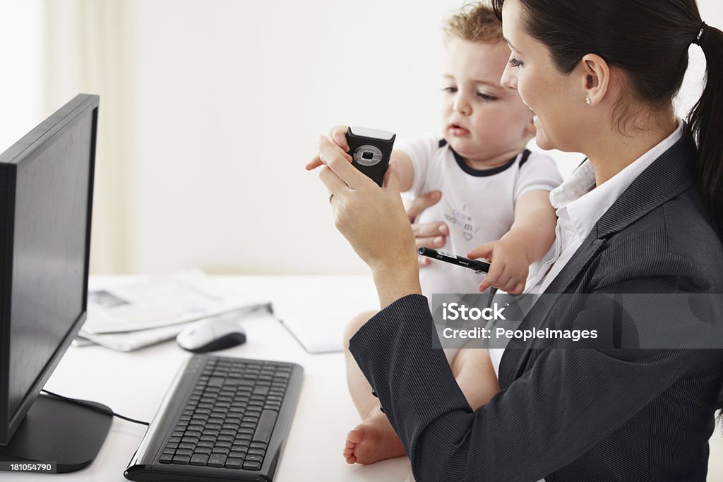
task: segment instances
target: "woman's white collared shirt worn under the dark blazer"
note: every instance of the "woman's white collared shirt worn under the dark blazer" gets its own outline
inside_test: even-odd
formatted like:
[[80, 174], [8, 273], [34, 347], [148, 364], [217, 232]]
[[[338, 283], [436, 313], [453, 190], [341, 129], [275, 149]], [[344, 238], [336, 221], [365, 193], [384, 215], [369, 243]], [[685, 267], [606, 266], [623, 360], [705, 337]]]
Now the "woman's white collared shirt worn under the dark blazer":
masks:
[[[646, 168], [683, 137], [683, 122], [678, 122], [675, 132], [655, 147], [625, 166], [622, 171], [595, 187], [595, 171], [590, 160], [580, 165], [560, 186], [552, 189], [549, 200], [557, 210], [555, 243], [543, 258], [539, 270], [532, 272], [527, 280], [525, 293], [543, 293], [568, 264], [575, 251], [583, 244], [597, 221], [617, 201], [620, 194], [641, 175]], [[594, 189], [593, 189], [594, 188]], [[500, 376], [502, 348], [492, 348], [489, 356]]]

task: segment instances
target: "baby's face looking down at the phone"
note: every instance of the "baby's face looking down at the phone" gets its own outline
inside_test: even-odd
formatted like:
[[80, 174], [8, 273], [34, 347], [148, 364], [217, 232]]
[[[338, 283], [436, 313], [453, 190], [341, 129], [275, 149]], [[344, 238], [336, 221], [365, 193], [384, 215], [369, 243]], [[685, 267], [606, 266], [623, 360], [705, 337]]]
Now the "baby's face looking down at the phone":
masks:
[[510, 57], [502, 41], [453, 38], [442, 69], [442, 134], [469, 160], [520, 152], [534, 134], [534, 113], [500, 84]]

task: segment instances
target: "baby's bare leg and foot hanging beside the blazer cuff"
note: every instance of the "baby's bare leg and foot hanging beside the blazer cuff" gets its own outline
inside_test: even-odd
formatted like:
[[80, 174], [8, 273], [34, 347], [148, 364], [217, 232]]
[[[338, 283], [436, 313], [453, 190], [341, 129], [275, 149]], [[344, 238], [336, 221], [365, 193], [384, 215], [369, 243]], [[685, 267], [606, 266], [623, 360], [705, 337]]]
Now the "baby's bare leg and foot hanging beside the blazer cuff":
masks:
[[346, 383], [351, 400], [361, 416], [361, 423], [351, 429], [346, 436], [344, 458], [346, 462], [370, 464], [379, 460], [404, 455], [402, 442], [389, 423], [387, 416], [380, 410], [379, 399], [372, 395], [372, 387], [349, 353], [349, 339], [354, 336], [362, 324], [377, 314], [367, 311], [354, 317], [344, 331], [344, 356], [346, 358]]

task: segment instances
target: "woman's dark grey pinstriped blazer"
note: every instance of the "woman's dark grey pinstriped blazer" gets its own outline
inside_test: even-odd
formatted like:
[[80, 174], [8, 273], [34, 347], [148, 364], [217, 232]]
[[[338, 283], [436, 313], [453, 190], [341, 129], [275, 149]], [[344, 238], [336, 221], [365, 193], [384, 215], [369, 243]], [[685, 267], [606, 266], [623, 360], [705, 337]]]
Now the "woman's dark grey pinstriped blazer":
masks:
[[[546, 293], [723, 293], [723, 246], [684, 136], [600, 218]], [[703, 481], [723, 350], [505, 350], [472, 411], [427, 299], [406, 296], [349, 343], [417, 481]]]

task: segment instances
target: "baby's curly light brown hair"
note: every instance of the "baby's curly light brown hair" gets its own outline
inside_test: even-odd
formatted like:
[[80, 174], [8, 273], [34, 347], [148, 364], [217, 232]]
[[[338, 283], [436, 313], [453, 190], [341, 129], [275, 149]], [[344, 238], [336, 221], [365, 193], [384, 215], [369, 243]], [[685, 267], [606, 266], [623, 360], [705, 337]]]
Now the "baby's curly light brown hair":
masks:
[[502, 40], [502, 22], [487, 1], [466, 4], [444, 26], [445, 40], [496, 43]]

